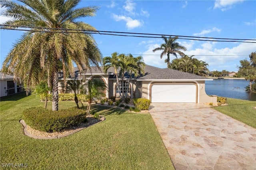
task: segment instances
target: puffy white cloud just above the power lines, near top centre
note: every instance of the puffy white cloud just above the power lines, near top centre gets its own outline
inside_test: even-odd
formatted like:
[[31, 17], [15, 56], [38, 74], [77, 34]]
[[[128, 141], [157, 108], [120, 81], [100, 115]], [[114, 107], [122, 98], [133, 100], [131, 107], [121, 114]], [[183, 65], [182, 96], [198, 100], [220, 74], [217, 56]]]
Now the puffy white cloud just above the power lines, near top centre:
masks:
[[125, 21], [126, 22], [126, 27], [128, 29], [133, 29], [133, 28], [136, 28], [136, 27], [140, 27], [144, 24], [143, 21], [133, 20], [132, 18], [130, 18], [128, 16], [112, 14], [112, 17], [114, 18], [115, 21], [122, 21], [122, 20]]

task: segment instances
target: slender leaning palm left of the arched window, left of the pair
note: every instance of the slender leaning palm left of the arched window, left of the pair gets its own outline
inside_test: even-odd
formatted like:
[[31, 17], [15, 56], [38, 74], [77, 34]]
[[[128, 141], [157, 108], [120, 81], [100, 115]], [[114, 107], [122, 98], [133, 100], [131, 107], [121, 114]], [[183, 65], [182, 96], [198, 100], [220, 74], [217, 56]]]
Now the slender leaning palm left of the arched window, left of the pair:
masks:
[[107, 73], [107, 71], [110, 67], [114, 68], [115, 76], [116, 76], [116, 83], [117, 83], [117, 87], [118, 87], [118, 92], [119, 92], [119, 95], [121, 97], [122, 95], [121, 95], [121, 91], [120, 91], [119, 79], [118, 79], [118, 73], [117, 73], [117, 70], [120, 67], [120, 61], [118, 60], [118, 53], [114, 52], [114, 53], [111, 54], [111, 57], [104, 57], [103, 58], [103, 65], [104, 65], [103, 66], [103, 71], [105, 73]]

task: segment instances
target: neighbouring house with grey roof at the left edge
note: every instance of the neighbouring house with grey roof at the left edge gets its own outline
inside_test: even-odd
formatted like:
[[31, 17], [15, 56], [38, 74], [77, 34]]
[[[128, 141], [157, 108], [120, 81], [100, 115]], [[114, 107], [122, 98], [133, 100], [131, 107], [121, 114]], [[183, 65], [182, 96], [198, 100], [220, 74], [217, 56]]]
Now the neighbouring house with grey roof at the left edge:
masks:
[[13, 75], [0, 73], [0, 97], [19, 93], [22, 91], [22, 87], [17, 85]]

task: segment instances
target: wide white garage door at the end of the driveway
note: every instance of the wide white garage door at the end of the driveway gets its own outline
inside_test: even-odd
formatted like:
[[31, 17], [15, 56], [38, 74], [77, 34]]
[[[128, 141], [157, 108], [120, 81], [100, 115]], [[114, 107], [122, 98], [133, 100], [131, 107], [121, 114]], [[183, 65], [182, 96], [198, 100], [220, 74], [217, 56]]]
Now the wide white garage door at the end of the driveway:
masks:
[[152, 85], [152, 103], [196, 103], [196, 85]]

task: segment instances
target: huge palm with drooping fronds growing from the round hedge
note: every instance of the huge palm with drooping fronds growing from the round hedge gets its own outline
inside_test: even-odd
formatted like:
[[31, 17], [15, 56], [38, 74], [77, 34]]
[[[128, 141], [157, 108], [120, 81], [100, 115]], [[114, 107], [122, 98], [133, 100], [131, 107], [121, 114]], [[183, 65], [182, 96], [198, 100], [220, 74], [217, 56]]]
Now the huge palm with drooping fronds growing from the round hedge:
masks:
[[[13, 19], [4, 25], [31, 27], [7, 55], [3, 67], [13, 70], [14, 77], [28, 75], [28, 85], [33, 77], [47, 73], [48, 85], [52, 87], [52, 110], [58, 110], [58, 72], [63, 71], [64, 81], [74, 75], [75, 63], [80, 72], [98, 66], [102, 55], [90, 34], [74, 33], [63, 29], [96, 29], [77, 21], [78, 18], [94, 16], [96, 6], [76, 8], [80, 0], [19, 0], [20, 3], [0, 0], [6, 7], [3, 16]], [[44, 28], [44, 29], [40, 29]], [[16, 28], [2, 26], [1, 28]], [[56, 28], [57, 30], [52, 30]]]

